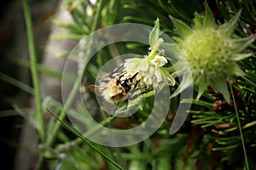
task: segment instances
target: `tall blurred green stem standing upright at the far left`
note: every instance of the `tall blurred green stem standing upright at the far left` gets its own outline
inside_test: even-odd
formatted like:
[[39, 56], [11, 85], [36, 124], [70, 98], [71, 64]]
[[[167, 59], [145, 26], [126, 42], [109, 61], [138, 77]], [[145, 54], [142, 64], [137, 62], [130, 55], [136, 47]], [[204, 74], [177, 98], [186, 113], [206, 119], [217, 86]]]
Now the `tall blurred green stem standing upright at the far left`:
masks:
[[40, 141], [44, 142], [44, 139], [45, 139], [44, 111], [42, 107], [42, 96], [41, 96], [40, 86], [39, 86], [38, 61], [37, 61], [35, 44], [34, 44], [31, 12], [30, 12], [30, 8], [28, 6], [27, 0], [21, 0], [21, 2], [24, 9], [24, 16], [26, 21], [26, 35], [27, 35], [29, 55], [30, 55], [30, 61], [31, 61], [32, 82], [33, 82], [34, 94], [35, 94], [36, 105], [37, 105], [36, 119], [38, 121], [38, 126], [36, 128], [39, 133]]

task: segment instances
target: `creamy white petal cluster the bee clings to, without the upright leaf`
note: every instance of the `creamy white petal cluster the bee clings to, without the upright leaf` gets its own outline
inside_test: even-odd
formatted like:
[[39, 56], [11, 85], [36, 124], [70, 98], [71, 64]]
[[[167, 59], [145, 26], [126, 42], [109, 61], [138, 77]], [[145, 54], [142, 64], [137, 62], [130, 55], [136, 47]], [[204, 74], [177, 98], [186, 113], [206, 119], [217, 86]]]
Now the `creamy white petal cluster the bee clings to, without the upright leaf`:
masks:
[[124, 71], [128, 75], [135, 75], [135, 81], [139, 82], [139, 88], [160, 88], [161, 82], [165, 82], [170, 86], [174, 86], [175, 80], [164, 70], [167, 59], [164, 56], [155, 55], [145, 58], [125, 59]]

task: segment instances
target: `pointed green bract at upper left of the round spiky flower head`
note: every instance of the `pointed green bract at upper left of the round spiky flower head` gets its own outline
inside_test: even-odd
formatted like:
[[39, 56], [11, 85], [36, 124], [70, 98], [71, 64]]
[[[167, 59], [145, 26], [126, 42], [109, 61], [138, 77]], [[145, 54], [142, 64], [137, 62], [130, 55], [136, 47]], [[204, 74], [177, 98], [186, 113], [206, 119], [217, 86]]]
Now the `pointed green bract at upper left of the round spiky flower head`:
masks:
[[189, 35], [192, 32], [191, 28], [187, 24], [185, 24], [183, 21], [177, 20], [174, 17], [172, 17], [171, 15], [170, 15], [170, 18], [172, 20], [173, 25], [177, 29], [177, 33], [181, 37], [186, 37], [187, 35]]

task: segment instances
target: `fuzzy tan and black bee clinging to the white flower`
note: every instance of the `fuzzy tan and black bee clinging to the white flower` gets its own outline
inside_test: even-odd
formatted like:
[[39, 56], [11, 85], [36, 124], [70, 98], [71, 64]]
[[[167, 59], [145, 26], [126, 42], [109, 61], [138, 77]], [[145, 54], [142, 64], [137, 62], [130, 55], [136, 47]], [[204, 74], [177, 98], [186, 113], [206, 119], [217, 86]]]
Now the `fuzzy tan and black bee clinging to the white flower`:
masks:
[[[121, 65], [122, 66], [122, 65]], [[114, 69], [100, 78], [99, 85], [88, 84], [85, 88], [91, 92], [100, 95], [108, 103], [117, 105], [119, 102], [128, 99], [136, 99], [137, 95], [132, 95], [137, 88], [137, 73], [133, 76], [128, 75], [126, 71], [119, 71], [120, 67]]]

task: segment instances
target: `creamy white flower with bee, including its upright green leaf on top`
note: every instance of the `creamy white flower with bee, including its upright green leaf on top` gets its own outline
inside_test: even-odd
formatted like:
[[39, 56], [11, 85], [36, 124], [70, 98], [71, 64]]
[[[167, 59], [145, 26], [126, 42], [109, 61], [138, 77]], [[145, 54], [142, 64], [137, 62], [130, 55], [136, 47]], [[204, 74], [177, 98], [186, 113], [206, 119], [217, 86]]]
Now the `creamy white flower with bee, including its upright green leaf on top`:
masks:
[[175, 80], [163, 67], [168, 62], [162, 55], [160, 45], [164, 42], [160, 37], [160, 25], [157, 19], [149, 34], [149, 53], [143, 58], [125, 59], [124, 71], [128, 76], [137, 75], [134, 81], [137, 88], [144, 90], [160, 89], [162, 82], [174, 86]]

